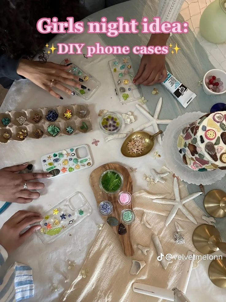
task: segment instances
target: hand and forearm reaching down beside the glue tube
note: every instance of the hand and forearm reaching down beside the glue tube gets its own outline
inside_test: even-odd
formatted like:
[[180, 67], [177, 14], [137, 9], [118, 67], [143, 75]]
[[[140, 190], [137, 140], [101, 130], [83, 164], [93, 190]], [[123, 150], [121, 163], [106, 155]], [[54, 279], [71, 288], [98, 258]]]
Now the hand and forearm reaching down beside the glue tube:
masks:
[[[147, 46], [166, 45], [169, 34], [152, 34]], [[144, 54], [134, 81], [136, 84], [151, 86], [162, 83], [167, 77], [165, 54]]]

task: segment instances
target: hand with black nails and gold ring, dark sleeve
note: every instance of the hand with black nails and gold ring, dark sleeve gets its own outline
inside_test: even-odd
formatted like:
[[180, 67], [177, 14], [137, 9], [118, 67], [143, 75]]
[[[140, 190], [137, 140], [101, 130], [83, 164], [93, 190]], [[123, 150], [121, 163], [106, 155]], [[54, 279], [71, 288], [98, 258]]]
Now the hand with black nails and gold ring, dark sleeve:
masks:
[[62, 96], [53, 91], [53, 87], [59, 88], [68, 95], [75, 95], [75, 92], [65, 87], [64, 84], [79, 89], [87, 88], [80, 83], [83, 82], [83, 79], [67, 72], [69, 68], [70, 66], [55, 64], [53, 62], [38, 62], [21, 59], [17, 68], [17, 73], [29, 79], [37, 86], [47, 90], [56, 98], [63, 99]]

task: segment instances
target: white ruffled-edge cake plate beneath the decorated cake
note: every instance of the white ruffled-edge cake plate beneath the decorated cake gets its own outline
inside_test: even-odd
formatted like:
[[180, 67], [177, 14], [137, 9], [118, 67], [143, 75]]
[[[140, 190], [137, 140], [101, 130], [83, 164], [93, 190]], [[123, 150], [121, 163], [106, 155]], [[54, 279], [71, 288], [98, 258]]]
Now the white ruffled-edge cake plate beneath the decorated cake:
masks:
[[187, 112], [184, 115], [178, 116], [166, 128], [162, 138], [162, 150], [167, 166], [180, 179], [187, 183], [208, 185], [220, 180], [226, 174], [226, 170], [216, 169], [213, 171], [199, 172], [190, 169], [183, 163], [181, 155], [177, 148], [177, 139], [181, 134], [182, 129], [188, 124], [196, 121], [203, 112]]

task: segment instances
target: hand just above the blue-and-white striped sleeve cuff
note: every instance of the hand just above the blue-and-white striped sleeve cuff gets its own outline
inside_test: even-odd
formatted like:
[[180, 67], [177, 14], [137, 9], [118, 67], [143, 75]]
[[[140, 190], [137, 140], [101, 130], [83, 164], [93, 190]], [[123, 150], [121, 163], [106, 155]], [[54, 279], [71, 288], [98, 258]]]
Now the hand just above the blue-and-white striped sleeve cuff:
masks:
[[7, 253], [16, 250], [27, 240], [35, 231], [41, 228], [41, 225], [34, 225], [26, 232], [20, 235], [30, 224], [41, 221], [43, 218], [39, 213], [30, 211], [18, 211], [9, 220], [7, 220], [0, 229], [0, 244]]

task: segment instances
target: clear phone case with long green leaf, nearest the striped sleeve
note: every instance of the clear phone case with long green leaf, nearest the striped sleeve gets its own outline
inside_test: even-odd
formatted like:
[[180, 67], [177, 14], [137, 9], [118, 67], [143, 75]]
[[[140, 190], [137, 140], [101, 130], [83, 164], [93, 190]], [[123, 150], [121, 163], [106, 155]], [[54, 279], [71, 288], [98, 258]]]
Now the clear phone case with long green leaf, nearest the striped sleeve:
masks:
[[44, 244], [49, 244], [91, 213], [92, 209], [84, 196], [80, 192], [75, 192], [45, 212], [37, 235]]

